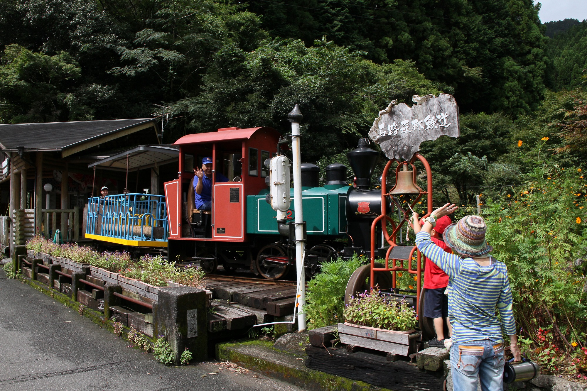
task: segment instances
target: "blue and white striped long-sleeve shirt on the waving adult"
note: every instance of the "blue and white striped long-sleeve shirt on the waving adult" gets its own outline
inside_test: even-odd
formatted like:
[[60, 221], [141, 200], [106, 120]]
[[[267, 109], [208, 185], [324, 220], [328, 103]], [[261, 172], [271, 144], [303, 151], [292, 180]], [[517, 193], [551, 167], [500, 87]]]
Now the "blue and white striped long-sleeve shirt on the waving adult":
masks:
[[416, 246], [448, 274], [448, 316], [454, 342], [490, 339], [501, 343], [502, 329], [507, 335], [516, 333], [510, 279], [503, 262], [481, 266], [473, 258], [450, 254], [434, 244], [424, 231], [416, 235]]

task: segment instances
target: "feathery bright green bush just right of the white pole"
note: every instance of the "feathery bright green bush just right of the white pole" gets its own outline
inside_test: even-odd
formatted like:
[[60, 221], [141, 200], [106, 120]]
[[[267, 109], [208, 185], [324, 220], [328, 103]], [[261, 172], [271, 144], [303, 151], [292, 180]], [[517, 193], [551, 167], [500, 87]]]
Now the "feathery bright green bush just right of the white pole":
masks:
[[321, 272], [308, 282], [306, 289], [303, 311], [309, 329], [344, 322], [346, 284], [350, 275], [361, 265], [356, 255], [349, 261], [339, 258], [322, 264]]

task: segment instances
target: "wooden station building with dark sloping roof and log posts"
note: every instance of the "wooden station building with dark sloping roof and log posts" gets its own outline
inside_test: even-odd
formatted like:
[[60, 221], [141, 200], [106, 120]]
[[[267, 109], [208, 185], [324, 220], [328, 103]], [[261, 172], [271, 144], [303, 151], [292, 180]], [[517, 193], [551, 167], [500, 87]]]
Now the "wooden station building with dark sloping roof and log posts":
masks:
[[117, 194], [124, 186], [137, 191], [139, 184], [153, 183], [151, 173], [136, 170], [129, 180], [124, 170], [90, 164], [158, 140], [154, 118], [0, 124], [0, 214], [10, 223], [2, 245], [12, 251], [33, 235], [49, 237], [56, 229], [64, 239], [83, 240], [82, 211], [92, 192], [99, 195], [107, 186]]

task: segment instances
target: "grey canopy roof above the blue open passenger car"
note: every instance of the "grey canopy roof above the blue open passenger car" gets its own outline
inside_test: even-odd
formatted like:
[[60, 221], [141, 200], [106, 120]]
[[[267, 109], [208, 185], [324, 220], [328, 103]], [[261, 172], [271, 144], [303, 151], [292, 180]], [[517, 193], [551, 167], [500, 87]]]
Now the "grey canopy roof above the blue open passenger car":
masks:
[[106, 170], [126, 170], [127, 157], [129, 170], [137, 168], [151, 168], [156, 164], [173, 163], [179, 160], [180, 147], [173, 144], [140, 145], [110, 157], [88, 164], [88, 167], [98, 166]]

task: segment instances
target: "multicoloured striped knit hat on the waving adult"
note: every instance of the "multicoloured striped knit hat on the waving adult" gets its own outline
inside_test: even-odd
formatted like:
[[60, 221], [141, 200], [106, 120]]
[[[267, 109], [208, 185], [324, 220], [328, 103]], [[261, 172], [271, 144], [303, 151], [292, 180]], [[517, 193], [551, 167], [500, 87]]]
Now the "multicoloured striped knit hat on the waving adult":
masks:
[[487, 225], [483, 217], [473, 215], [448, 225], [442, 236], [448, 247], [458, 254], [477, 257], [493, 250], [485, 241], [485, 231]]

